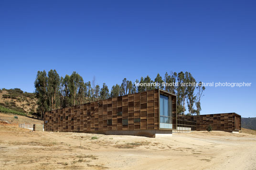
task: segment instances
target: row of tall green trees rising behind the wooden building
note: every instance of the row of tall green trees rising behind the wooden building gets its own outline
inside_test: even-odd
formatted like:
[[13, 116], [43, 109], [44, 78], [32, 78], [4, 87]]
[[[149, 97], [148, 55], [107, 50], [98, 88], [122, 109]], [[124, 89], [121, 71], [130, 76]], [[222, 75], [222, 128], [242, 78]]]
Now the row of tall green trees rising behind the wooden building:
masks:
[[[173, 84], [178, 82], [178, 85], [164, 86], [163, 82]], [[92, 82], [84, 82], [82, 76], [75, 71], [70, 76], [60, 77], [56, 70], [50, 70], [48, 75], [43, 70], [37, 72], [34, 86], [35, 95], [38, 99], [37, 111], [42, 116], [45, 111], [49, 110], [153, 89], [162, 89], [177, 95], [177, 114], [184, 115], [187, 109], [187, 114], [199, 115], [205, 87], [202, 86], [201, 81], [197, 87], [181, 85], [181, 83], [190, 82], [196, 82], [190, 72], [171, 72], [171, 74], [166, 72], [163, 79], [159, 73], [155, 79], [151, 79], [147, 75], [146, 77], [141, 77], [140, 80], [135, 80], [134, 83], [124, 78], [120, 85], [113, 85], [109, 91], [106, 83], [103, 83], [102, 87], [96, 84], [95, 77], [93, 77]], [[155, 83], [155, 85], [136, 86], [136, 83]]]

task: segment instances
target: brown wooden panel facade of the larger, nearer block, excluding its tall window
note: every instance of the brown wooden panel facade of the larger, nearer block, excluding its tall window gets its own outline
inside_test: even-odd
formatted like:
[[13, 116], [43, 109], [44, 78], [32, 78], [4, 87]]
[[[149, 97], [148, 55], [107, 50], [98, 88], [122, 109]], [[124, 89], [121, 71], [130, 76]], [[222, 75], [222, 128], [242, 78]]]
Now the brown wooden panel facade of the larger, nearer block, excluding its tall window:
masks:
[[47, 111], [44, 129], [59, 132], [172, 130], [160, 129], [160, 94], [171, 97], [172, 129], [176, 129], [176, 95], [159, 89]]

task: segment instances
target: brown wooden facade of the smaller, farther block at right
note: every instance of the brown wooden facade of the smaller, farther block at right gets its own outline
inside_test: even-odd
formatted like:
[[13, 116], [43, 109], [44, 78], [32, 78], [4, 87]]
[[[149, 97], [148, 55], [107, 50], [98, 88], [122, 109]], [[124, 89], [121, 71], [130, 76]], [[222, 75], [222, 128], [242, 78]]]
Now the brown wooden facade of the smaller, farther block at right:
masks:
[[177, 119], [195, 121], [196, 130], [206, 130], [209, 124], [213, 127], [213, 130], [228, 132], [241, 130], [241, 116], [236, 113], [178, 116]]

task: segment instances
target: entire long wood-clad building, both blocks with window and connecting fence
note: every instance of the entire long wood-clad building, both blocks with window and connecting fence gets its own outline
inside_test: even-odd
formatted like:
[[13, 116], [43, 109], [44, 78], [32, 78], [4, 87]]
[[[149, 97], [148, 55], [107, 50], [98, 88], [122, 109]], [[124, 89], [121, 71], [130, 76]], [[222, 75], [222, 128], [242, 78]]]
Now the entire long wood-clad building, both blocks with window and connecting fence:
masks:
[[44, 130], [101, 134], [171, 136], [186, 131], [241, 130], [236, 113], [177, 117], [177, 96], [165, 90], [149, 90], [125, 96], [47, 111]]

